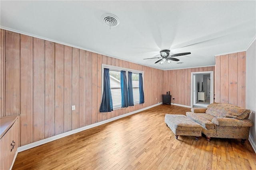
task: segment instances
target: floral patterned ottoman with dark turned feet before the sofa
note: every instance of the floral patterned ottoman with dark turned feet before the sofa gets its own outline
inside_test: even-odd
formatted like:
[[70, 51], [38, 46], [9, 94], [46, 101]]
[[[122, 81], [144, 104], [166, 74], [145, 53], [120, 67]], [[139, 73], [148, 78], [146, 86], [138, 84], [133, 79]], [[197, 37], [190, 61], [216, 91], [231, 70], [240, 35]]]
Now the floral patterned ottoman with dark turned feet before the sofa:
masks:
[[164, 121], [167, 127], [170, 127], [176, 139], [179, 135], [195, 136], [196, 141], [198, 137], [202, 136], [202, 126], [192, 121], [185, 115], [170, 115], [166, 114]]

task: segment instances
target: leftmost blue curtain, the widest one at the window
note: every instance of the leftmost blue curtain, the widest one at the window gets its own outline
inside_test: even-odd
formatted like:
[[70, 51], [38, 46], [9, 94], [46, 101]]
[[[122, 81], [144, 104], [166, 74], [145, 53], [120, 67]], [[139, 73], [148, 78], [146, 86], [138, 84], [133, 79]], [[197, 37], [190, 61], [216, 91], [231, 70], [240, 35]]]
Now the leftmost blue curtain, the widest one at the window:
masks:
[[104, 68], [103, 95], [100, 112], [113, 111], [112, 96], [110, 91], [109, 68]]

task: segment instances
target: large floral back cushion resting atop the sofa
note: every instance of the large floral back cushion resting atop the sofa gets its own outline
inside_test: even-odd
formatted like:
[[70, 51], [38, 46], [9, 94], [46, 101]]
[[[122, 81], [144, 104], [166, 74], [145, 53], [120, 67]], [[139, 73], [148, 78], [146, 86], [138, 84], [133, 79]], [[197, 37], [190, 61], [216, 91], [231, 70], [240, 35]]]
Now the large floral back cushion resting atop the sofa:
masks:
[[232, 104], [212, 103], [207, 106], [206, 113], [215, 117], [245, 119], [250, 114], [250, 110]]

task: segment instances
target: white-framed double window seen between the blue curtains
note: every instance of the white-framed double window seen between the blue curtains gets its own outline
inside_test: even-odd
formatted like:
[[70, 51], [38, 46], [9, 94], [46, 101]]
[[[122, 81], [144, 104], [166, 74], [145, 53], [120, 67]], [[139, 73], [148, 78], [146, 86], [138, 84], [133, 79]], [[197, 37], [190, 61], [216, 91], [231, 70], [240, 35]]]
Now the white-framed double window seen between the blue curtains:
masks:
[[[102, 70], [104, 70], [104, 68], [109, 68], [110, 91], [112, 95], [113, 109], [118, 109], [118, 108], [121, 108], [122, 106], [121, 76], [120, 76], [121, 70], [126, 71], [127, 80], [128, 80], [128, 71], [132, 72], [132, 93], [133, 93], [134, 105], [139, 104], [140, 103], [139, 73], [142, 73], [142, 76], [144, 77], [144, 72], [139, 70], [131, 70], [127, 68], [102, 64]], [[102, 77], [103, 77], [103, 72], [102, 72]], [[102, 83], [102, 87], [103, 87], [103, 83]]]

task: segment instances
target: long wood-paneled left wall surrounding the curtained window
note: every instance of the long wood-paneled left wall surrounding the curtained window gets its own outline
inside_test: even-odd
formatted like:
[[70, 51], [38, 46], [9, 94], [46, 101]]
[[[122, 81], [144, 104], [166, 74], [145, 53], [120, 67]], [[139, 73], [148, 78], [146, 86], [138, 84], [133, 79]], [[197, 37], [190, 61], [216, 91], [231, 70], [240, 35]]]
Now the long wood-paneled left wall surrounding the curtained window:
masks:
[[[162, 102], [163, 70], [3, 29], [0, 35], [0, 116], [20, 114], [21, 146]], [[145, 103], [100, 113], [101, 64], [144, 71]]]

